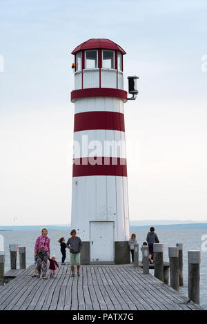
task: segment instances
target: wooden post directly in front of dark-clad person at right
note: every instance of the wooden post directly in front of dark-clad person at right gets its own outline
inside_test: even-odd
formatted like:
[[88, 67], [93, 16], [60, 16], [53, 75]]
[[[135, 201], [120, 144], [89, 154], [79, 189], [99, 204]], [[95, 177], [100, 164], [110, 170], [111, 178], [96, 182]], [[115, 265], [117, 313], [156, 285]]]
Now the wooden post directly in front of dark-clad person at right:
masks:
[[163, 261], [163, 251], [164, 245], [162, 243], [153, 244], [154, 250], [154, 276], [164, 281], [164, 261]]

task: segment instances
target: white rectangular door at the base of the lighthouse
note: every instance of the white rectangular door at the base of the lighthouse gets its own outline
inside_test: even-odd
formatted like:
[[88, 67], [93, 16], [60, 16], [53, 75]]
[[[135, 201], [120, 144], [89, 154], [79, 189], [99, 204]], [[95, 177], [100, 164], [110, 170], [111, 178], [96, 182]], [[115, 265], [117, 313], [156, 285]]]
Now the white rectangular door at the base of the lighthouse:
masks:
[[114, 228], [112, 221], [90, 222], [90, 262], [114, 262]]

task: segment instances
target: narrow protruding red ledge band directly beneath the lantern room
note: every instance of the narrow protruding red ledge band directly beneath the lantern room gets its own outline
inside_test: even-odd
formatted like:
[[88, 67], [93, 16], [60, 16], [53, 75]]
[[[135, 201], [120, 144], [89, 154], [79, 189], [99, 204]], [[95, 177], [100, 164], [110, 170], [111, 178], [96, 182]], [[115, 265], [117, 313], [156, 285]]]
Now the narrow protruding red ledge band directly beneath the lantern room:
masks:
[[121, 89], [112, 88], [88, 88], [71, 92], [71, 101], [88, 97], [114, 97], [127, 101], [127, 92]]

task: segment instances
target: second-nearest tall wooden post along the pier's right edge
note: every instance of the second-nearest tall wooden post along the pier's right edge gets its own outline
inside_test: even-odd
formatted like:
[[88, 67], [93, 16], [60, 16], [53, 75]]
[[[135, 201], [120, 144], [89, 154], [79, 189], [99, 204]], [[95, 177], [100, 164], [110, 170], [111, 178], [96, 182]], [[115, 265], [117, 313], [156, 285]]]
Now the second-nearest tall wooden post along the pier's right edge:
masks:
[[168, 247], [170, 259], [170, 287], [179, 292], [179, 250], [178, 247]]

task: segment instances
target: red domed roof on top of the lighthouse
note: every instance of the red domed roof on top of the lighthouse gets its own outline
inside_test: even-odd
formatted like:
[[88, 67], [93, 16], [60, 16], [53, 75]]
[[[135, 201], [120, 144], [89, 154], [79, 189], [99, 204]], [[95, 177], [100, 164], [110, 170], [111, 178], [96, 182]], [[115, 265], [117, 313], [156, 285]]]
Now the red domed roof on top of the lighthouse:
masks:
[[110, 41], [110, 39], [104, 39], [104, 38], [93, 38], [88, 39], [88, 41], [84, 41], [80, 45], [75, 48], [75, 50], [72, 51], [72, 54], [76, 54], [79, 52], [79, 50], [95, 50], [95, 49], [106, 49], [106, 50], [119, 50], [122, 54], [126, 54], [126, 52], [121, 48], [119, 45], [114, 43], [113, 41]]

